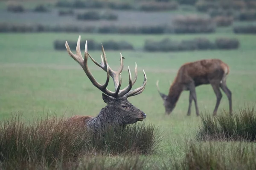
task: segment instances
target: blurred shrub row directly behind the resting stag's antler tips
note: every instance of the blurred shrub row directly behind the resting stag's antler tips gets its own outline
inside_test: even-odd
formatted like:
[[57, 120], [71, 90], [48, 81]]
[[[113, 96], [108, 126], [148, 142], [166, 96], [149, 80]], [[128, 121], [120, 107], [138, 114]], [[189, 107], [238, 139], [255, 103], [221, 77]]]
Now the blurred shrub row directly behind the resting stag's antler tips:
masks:
[[[75, 41], [67, 41], [70, 49], [76, 49]], [[97, 43], [94, 40], [87, 40], [89, 50], [101, 50], [101, 43]], [[82, 41], [81, 44], [85, 44], [85, 41]], [[55, 40], [53, 42], [55, 50], [66, 50], [64, 40]], [[105, 50], [134, 50], [133, 45], [126, 41], [104, 41], [102, 42]]]

